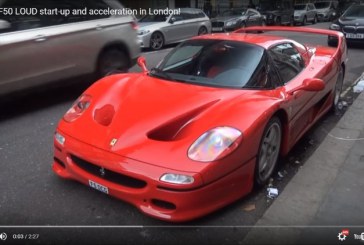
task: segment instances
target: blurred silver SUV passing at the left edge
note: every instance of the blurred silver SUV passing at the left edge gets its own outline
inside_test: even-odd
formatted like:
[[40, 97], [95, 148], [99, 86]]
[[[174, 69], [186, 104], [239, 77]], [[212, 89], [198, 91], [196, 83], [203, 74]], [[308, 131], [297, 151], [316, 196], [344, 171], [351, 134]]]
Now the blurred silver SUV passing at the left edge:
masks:
[[126, 71], [140, 54], [136, 19], [114, 0], [0, 0], [0, 10], [0, 95]]

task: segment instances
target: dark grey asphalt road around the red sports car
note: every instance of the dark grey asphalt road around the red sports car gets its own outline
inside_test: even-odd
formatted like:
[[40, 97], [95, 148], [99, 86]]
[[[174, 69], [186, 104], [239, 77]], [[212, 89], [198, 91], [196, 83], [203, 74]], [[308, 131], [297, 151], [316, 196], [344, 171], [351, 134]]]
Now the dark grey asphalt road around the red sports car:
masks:
[[[318, 28], [327, 26], [328, 23], [315, 25]], [[326, 45], [326, 38], [290, 37]], [[155, 66], [169, 50], [145, 52], [148, 67]], [[364, 71], [363, 54], [363, 48], [349, 49], [345, 90]], [[138, 70], [136, 67], [131, 69]], [[24, 243], [19, 239], [12, 240], [12, 234], [19, 233], [39, 234], [40, 238], [35, 242], [52, 240], [68, 244], [82, 241], [104, 244], [235, 244], [241, 241], [250, 226], [272, 203], [264, 189], [254, 190], [247, 197], [202, 219], [176, 225], [149, 218], [125, 202], [53, 174], [53, 133], [58, 120], [89, 85], [86, 80], [75, 79], [71, 81], [75, 83], [72, 86], [46, 88], [0, 100], [0, 233], [8, 234], [4, 244]], [[343, 99], [350, 104], [355, 96], [345, 92]], [[287, 158], [282, 159], [279, 171], [283, 177], [277, 173], [273, 186], [280, 191], [284, 189], [344, 112], [345, 108], [328, 114]], [[247, 211], [249, 207], [253, 210]], [[31, 227], [5, 227], [24, 225]]]

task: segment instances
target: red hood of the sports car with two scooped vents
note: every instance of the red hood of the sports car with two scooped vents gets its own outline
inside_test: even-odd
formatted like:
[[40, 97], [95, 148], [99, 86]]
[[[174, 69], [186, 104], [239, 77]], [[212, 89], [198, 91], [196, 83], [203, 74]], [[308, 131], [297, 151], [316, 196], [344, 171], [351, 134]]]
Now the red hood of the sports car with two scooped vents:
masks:
[[86, 90], [90, 107], [72, 123], [61, 120], [59, 130], [124, 157], [183, 169], [177, 163], [189, 161], [190, 145], [211, 128], [231, 126], [231, 105], [246, 93], [141, 74], [114, 75]]

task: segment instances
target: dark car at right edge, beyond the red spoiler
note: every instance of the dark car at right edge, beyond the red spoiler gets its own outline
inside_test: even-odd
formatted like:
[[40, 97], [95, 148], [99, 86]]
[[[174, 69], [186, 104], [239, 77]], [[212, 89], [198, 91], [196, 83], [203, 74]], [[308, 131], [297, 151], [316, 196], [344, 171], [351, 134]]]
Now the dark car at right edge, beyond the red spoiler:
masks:
[[[344, 33], [348, 42], [364, 42], [364, 4], [351, 5], [344, 14], [335, 20], [331, 30], [337, 30]], [[330, 46], [337, 45], [335, 37], [328, 37]]]

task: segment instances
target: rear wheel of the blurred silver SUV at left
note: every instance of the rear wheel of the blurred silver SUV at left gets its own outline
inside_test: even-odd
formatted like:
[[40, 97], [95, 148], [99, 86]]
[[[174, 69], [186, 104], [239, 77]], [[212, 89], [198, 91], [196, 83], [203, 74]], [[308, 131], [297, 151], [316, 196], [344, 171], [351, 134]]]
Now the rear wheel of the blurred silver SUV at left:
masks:
[[130, 60], [127, 54], [118, 48], [103, 51], [97, 62], [96, 76], [98, 78], [115, 73], [128, 72]]

